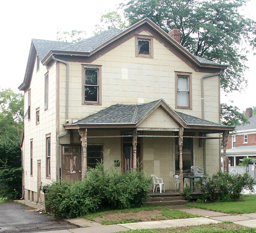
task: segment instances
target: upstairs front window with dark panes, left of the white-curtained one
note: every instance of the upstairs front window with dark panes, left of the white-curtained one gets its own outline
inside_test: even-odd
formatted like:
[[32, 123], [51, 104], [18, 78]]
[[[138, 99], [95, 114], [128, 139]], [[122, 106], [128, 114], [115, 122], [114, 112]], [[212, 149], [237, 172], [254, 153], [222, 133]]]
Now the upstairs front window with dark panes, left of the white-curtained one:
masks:
[[82, 104], [101, 104], [101, 66], [82, 65]]

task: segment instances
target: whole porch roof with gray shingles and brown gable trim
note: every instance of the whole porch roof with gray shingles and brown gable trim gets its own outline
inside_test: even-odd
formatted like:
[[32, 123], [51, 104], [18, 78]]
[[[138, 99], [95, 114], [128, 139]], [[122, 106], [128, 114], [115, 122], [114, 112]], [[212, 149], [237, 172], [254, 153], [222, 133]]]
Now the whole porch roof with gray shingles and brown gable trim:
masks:
[[116, 104], [95, 114], [64, 125], [66, 129], [79, 128], [136, 128], [154, 110], [161, 107], [179, 126], [191, 129], [233, 130], [232, 126], [224, 126], [212, 121], [204, 120], [185, 113], [174, 111], [163, 99], [140, 105]]

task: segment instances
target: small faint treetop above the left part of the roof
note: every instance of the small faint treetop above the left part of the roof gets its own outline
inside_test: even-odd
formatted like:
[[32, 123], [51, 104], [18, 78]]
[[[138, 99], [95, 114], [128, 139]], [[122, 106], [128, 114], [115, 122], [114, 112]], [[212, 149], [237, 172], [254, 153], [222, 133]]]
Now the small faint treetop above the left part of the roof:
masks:
[[62, 31], [61, 28], [58, 28], [57, 31], [57, 40], [58, 41], [64, 41], [64, 42], [70, 42], [75, 43], [82, 39], [84, 39], [86, 33], [85, 31], [78, 31], [78, 30], [72, 30], [71, 32], [68, 31]]

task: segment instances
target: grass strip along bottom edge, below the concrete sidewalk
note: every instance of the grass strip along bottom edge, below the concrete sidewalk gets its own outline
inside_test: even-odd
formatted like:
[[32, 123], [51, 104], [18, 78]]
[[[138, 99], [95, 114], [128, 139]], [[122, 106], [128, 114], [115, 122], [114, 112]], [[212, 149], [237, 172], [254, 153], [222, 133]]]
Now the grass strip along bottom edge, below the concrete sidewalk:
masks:
[[211, 223], [200, 226], [138, 229], [120, 233], [255, 233], [256, 228], [245, 228], [231, 222]]

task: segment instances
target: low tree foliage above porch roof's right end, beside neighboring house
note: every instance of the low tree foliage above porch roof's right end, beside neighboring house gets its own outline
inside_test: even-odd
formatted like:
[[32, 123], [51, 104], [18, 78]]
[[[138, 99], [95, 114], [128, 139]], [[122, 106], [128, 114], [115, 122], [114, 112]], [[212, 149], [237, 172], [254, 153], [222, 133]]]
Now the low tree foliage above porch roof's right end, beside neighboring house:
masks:
[[221, 124], [238, 126], [242, 123], [248, 123], [248, 120], [238, 107], [221, 104]]

